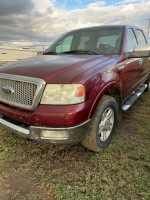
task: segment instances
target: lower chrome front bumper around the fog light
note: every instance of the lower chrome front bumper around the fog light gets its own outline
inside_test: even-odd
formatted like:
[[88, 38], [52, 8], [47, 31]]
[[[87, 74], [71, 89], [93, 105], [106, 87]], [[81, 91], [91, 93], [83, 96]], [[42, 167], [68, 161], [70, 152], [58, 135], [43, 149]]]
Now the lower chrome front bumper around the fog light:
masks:
[[[90, 120], [72, 127], [53, 128], [44, 126], [29, 126], [27, 124], [23, 124], [21, 122], [2, 116], [2, 118], [0, 118], [0, 125], [11, 130], [18, 136], [35, 141], [40, 144], [67, 145], [79, 143], [85, 138], [89, 121]], [[51, 131], [53, 132], [53, 136], [56, 135], [56, 137], [43, 137], [43, 131]], [[64, 131], [67, 133], [67, 137], [63, 138], [57, 136]]]

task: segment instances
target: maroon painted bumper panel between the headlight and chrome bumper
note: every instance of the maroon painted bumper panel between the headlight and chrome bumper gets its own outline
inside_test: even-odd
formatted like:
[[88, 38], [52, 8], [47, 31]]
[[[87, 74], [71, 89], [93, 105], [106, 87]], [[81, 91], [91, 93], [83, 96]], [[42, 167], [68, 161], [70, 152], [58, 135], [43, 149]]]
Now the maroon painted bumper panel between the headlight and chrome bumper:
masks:
[[93, 101], [76, 105], [40, 105], [33, 113], [0, 104], [0, 113], [29, 125], [63, 127], [73, 126], [88, 120]]

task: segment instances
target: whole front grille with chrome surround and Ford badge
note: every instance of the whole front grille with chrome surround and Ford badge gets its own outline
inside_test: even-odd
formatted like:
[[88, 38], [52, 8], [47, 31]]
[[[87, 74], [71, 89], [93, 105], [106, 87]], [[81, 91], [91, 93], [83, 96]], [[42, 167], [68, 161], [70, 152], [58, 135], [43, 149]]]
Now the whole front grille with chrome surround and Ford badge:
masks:
[[27, 110], [34, 110], [45, 87], [38, 78], [0, 73], [0, 101]]

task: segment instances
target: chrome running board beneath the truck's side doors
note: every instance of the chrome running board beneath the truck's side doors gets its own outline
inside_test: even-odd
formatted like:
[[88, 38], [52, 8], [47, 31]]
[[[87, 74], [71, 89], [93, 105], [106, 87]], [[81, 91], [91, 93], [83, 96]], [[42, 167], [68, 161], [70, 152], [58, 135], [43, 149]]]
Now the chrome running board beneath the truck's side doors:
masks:
[[141, 85], [133, 94], [132, 96], [127, 99], [127, 101], [122, 106], [123, 111], [127, 111], [132, 104], [136, 101], [136, 99], [144, 92], [144, 90], [147, 88], [147, 84]]

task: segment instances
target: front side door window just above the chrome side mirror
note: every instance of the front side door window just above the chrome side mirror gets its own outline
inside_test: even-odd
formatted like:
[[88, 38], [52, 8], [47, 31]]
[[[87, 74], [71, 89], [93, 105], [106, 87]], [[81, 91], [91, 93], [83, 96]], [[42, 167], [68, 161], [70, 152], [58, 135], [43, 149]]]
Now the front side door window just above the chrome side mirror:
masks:
[[126, 40], [126, 52], [133, 52], [135, 45], [137, 45], [137, 41], [133, 29], [128, 29]]

